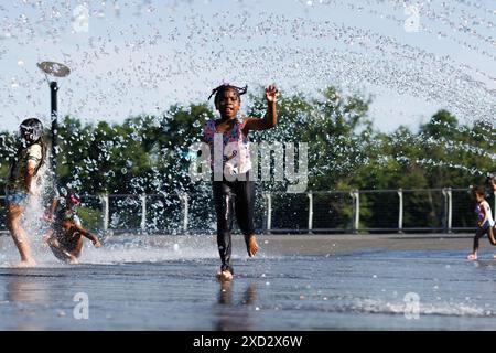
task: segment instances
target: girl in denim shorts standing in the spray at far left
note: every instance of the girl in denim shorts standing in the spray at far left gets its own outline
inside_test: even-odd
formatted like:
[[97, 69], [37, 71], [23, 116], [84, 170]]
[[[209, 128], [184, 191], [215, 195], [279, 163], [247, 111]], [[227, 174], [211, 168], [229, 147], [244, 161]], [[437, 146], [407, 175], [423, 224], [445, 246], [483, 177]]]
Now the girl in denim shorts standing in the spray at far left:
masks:
[[29, 239], [21, 226], [21, 216], [28, 197], [34, 195], [34, 185], [39, 181], [37, 172], [45, 158], [42, 122], [35, 118], [22, 121], [18, 151], [10, 164], [6, 185], [7, 227], [21, 255], [21, 267], [36, 266]]

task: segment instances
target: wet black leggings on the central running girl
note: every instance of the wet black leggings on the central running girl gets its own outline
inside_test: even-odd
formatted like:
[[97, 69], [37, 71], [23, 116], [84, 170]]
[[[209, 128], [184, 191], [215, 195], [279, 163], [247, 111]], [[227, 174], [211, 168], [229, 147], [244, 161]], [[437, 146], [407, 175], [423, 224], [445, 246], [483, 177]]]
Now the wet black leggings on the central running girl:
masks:
[[233, 211], [235, 211], [236, 221], [245, 237], [255, 233], [255, 182], [249, 181], [249, 172], [245, 176], [242, 181], [213, 181], [215, 212], [217, 214], [217, 246], [223, 263], [220, 270], [229, 270], [231, 274]]

